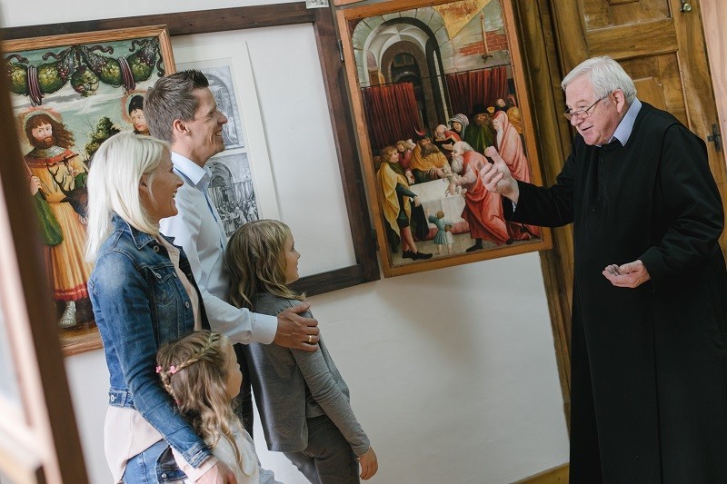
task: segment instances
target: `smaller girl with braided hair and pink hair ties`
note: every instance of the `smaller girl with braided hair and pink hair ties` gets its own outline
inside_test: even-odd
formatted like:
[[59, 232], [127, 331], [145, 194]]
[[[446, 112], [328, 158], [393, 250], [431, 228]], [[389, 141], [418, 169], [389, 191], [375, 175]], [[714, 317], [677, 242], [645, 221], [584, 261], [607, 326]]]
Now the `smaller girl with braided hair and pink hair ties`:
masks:
[[[179, 412], [213, 449], [214, 457], [233, 469], [237, 484], [277, 483], [272, 471], [260, 468], [253, 439], [232, 409], [243, 374], [224, 334], [197, 331], [166, 343], [157, 351], [156, 363]], [[173, 452], [183, 464], [181, 455]]]

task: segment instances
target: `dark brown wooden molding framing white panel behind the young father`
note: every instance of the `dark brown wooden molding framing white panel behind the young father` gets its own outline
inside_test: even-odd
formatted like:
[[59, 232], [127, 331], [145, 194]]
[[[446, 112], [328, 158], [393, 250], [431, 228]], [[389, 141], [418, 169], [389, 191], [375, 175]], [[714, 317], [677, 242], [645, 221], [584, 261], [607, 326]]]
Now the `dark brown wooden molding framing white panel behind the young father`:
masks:
[[[15, 40], [140, 25], [166, 25], [169, 34], [176, 36], [299, 24], [312, 24], [314, 27], [356, 260], [354, 265], [307, 276], [295, 283], [298, 291], [305, 291], [312, 296], [376, 281], [381, 277], [373, 241], [371, 218], [366, 203], [364, 178], [355, 141], [354, 122], [345, 87], [344, 68], [338, 54], [338, 37], [335, 31], [333, 10], [307, 9], [304, 2], [255, 5], [65, 24], [8, 27], [0, 29], [0, 36], [3, 40]], [[101, 348], [101, 341], [97, 334], [88, 336], [88, 338], [94, 341], [65, 346], [65, 355]]]

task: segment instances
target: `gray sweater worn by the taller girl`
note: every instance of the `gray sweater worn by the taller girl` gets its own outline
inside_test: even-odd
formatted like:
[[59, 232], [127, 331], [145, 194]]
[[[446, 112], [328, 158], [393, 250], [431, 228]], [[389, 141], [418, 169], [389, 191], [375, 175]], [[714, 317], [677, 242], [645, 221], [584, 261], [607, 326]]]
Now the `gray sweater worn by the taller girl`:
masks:
[[[258, 295], [253, 309], [277, 316], [278, 312], [300, 304], [268, 293]], [[310, 312], [304, 316], [313, 317]], [[369, 439], [354, 416], [349, 391], [325, 347], [320, 351], [290, 350], [276, 344], [251, 343], [246, 356], [257, 410], [263, 421], [270, 450], [296, 452], [308, 447], [306, 419], [327, 415], [354, 454], [369, 449]]]

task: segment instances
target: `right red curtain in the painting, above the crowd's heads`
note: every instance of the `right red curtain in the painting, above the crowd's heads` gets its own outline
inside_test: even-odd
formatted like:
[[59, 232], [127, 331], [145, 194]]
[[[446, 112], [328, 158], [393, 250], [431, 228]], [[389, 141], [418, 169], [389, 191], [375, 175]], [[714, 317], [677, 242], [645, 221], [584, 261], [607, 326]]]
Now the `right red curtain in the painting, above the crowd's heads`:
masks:
[[493, 106], [498, 98], [505, 99], [508, 94], [505, 67], [447, 74], [446, 80], [453, 114], [469, 116], [477, 104]]

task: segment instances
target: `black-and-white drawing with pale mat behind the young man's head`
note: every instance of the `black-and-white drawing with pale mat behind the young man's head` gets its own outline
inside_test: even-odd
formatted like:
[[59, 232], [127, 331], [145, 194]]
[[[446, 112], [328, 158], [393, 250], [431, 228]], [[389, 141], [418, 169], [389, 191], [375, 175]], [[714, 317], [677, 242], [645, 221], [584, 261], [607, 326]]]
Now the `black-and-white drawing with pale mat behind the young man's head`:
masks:
[[227, 117], [224, 152], [208, 165], [210, 195], [227, 235], [244, 222], [279, 219], [262, 116], [247, 43], [194, 44], [174, 49], [177, 70], [198, 69], [210, 83], [218, 108]]

